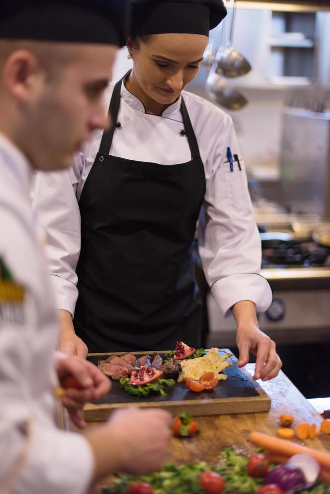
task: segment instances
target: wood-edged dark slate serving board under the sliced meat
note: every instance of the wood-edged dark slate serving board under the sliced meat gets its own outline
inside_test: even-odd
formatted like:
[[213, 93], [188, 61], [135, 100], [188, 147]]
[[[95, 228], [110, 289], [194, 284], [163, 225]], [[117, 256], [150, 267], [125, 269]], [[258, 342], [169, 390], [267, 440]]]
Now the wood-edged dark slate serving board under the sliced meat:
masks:
[[[137, 357], [152, 355], [154, 352], [135, 352]], [[160, 355], [166, 353], [157, 352]], [[228, 349], [221, 349], [219, 353], [232, 353]], [[90, 353], [88, 360], [95, 363], [105, 360], [110, 355], [122, 353]], [[223, 371], [227, 374], [226, 381], [219, 381], [212, 391], [194, 393], [187, 389], [185, 383], [177, 383], [173, 388], [164, 386], [167, 395], [162, 397], [153, 395], [139, 398], [125, 393], [119, 381], [112, 381], [111, 391], [103, 396], [95, 404], [87, 403], [84, 407], [86, 421], [103, 421], [117, 408], [125, 408], [132, 405], [142, 408], [161, 407], [174, 415], [188, 412], [193, 416], [198, 415], [223, 415], [230, 413], [265, 412], [270, 408], [270, 398], [263, 389], [252, 380], [250, 374], [236, 365], [237, 358], [231, 357], [228, 361], [232, 366]]]

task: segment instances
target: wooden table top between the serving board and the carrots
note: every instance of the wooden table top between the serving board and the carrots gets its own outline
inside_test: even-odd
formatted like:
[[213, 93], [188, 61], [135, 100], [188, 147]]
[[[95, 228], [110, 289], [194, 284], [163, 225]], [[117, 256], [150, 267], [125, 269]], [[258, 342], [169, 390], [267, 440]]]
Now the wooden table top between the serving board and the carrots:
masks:
[[[248, 364], [246, 369], [253, 375], [254, 364]], [[214, 463], [225, 446], [233, 446], [242, 454], [255, 452], [255, 446], [248, 441], [249, 433], [257, 430], [276, 436], [279, 416], [282, 413], [291, 413], [296, 423], [315, 422], [319, 426], [321, 416], [282, 371], [277, 378], [265, 383], [260, 382], [260, 385], [271, 398], [271, 408], [268, 412], [197, 417], [200, 434], [189, 439], [173, 437], [170, 440], [167, 461], [176, 464], [197, 460]], [[99, 424], [100, 422], [88, 423], [89, 426]], [[330, 452], [330, 436], [321, 435], [314, 440], [293, 441]]]

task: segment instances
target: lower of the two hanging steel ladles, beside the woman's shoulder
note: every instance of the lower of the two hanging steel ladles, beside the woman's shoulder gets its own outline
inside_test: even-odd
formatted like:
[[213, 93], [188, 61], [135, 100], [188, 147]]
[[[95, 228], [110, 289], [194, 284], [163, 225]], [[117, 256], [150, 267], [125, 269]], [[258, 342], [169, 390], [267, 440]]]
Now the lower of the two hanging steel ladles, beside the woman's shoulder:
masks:
[[239, 110], [247, 103], [247, 99], [216, 72], [216, 64], [210, 70], [205, 88], [215, 103], [229, 110]]

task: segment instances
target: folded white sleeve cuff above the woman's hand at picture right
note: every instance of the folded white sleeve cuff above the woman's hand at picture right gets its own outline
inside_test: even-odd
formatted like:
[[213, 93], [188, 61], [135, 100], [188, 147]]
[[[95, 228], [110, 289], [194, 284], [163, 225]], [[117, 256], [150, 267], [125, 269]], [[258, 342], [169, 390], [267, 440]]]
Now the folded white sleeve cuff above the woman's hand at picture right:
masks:
[[217, 280], [211, 287], [221, 312], [231, 315], [230, 308], [242, 300], [255, 303], [256, 312], [265, 312], [272, 302], [272, 291], [268, 281], [256, 273], [238, 273]]

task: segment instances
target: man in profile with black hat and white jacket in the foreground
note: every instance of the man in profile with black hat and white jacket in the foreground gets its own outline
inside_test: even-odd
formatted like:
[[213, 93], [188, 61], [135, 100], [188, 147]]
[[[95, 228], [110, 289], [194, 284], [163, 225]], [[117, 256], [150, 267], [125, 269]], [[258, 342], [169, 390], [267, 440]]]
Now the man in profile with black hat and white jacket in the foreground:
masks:
[[[33, 172], [64, 169], [109, 125], [102, 92], [125, 43], [125, 2], [0, 0], [0, 491], [82, 494], [114, 470], [160, 466], [170, 416], [127, 409], [85, 436], [56, 427], [55, 387], [76, 408], [109, 390], [90, 362], [55, 355], [58, 320], [30, 210]], [[138, 424], [138, 427], [137, 427]], [[138, 461], [137, 461], [138, 459]]]

